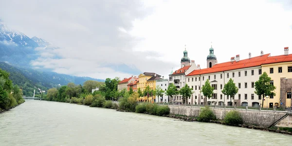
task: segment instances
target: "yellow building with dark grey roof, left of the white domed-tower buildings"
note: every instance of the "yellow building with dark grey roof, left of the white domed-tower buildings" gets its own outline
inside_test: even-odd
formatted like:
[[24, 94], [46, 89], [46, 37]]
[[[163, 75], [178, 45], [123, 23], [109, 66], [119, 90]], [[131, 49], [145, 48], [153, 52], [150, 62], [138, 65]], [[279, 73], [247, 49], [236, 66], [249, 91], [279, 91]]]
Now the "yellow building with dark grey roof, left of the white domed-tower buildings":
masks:
[[[139, 82], [137, 82], [137, 88], [138, 89], [140, 88], [142, 92], [144, 90], [146, 90], [146, 87], [148, 85], [149, 85], [150, 89], [155, 90], [156, 80], [161, 80], [160, 75], [158, 75], [156, 73], [151, 73], [151, 72], [144, 72], [144, 73], [140, 74], [138, 77], [139, 77]], [[140, 98], [140, 100], [149, 101], [149, 99], [147, 99], [146, 97], [142, 97], [142, 98]], [[151, 97], [151, 100], [153, 100], [152, 97]]]

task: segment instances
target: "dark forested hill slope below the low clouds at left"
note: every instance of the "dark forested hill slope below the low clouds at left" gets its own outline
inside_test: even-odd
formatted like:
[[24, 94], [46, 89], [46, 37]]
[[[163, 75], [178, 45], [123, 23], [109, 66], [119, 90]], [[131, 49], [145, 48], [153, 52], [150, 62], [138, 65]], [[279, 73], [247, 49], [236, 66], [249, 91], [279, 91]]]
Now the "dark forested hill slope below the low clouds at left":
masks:
[[93, 79], [90, 77], [76, 77], [55, 72], [37, 71], [31, 68], [15, 67], [10, 64], [0, 62], [0, 68], [10, 73], [10, 79], [13, 83], [18, 84], [25, 92], [32, 92], [34, 89], [40, 88], [47, 90], [68, 83], [83, 84], [87, 80], [104, 82], [104, 80]]

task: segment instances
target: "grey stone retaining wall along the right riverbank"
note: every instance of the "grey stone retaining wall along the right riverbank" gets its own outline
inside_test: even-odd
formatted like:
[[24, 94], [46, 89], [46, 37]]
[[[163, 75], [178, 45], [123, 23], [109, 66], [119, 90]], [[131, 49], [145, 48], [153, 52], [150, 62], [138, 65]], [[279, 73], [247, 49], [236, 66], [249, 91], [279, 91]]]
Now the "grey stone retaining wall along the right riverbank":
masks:
[[[182, 105], [168, 105], [171, 114], [186, 115], [189, 117], [198, 117], [201, 107], [198, 106], [182, 106]], [[217, 119], [222, 120], [231, 110], [240, 112], [244, 124], [257, 125], [262, 127], [282, 126], [292, 127], [292, 114], [287, 111], [267, 111], [267, 110], [253, 110], [253, 109], [231, 109], [231, 108], [214, 108]]]

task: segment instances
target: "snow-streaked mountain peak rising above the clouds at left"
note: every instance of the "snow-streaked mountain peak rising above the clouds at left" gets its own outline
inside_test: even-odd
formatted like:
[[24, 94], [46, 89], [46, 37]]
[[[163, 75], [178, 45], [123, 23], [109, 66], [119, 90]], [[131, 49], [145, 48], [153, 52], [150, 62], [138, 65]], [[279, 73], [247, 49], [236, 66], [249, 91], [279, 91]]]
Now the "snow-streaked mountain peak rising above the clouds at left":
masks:
[[25, 34], [10, 29], [7, 24], [0, 20], [0, 41], [6, 44], [15, 44], [16, 46], [35, 48], [37, 42], [30, 39]]

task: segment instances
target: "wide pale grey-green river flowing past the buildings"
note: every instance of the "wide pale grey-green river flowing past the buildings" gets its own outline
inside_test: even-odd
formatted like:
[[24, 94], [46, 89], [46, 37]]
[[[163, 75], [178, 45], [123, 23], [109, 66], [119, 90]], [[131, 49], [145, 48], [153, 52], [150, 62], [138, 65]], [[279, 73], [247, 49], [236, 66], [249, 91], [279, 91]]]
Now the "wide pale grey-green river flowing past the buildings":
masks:
[[0, 146], [291, 146], [292, 136], [77, 104], [26, 101], [0, 114]]

